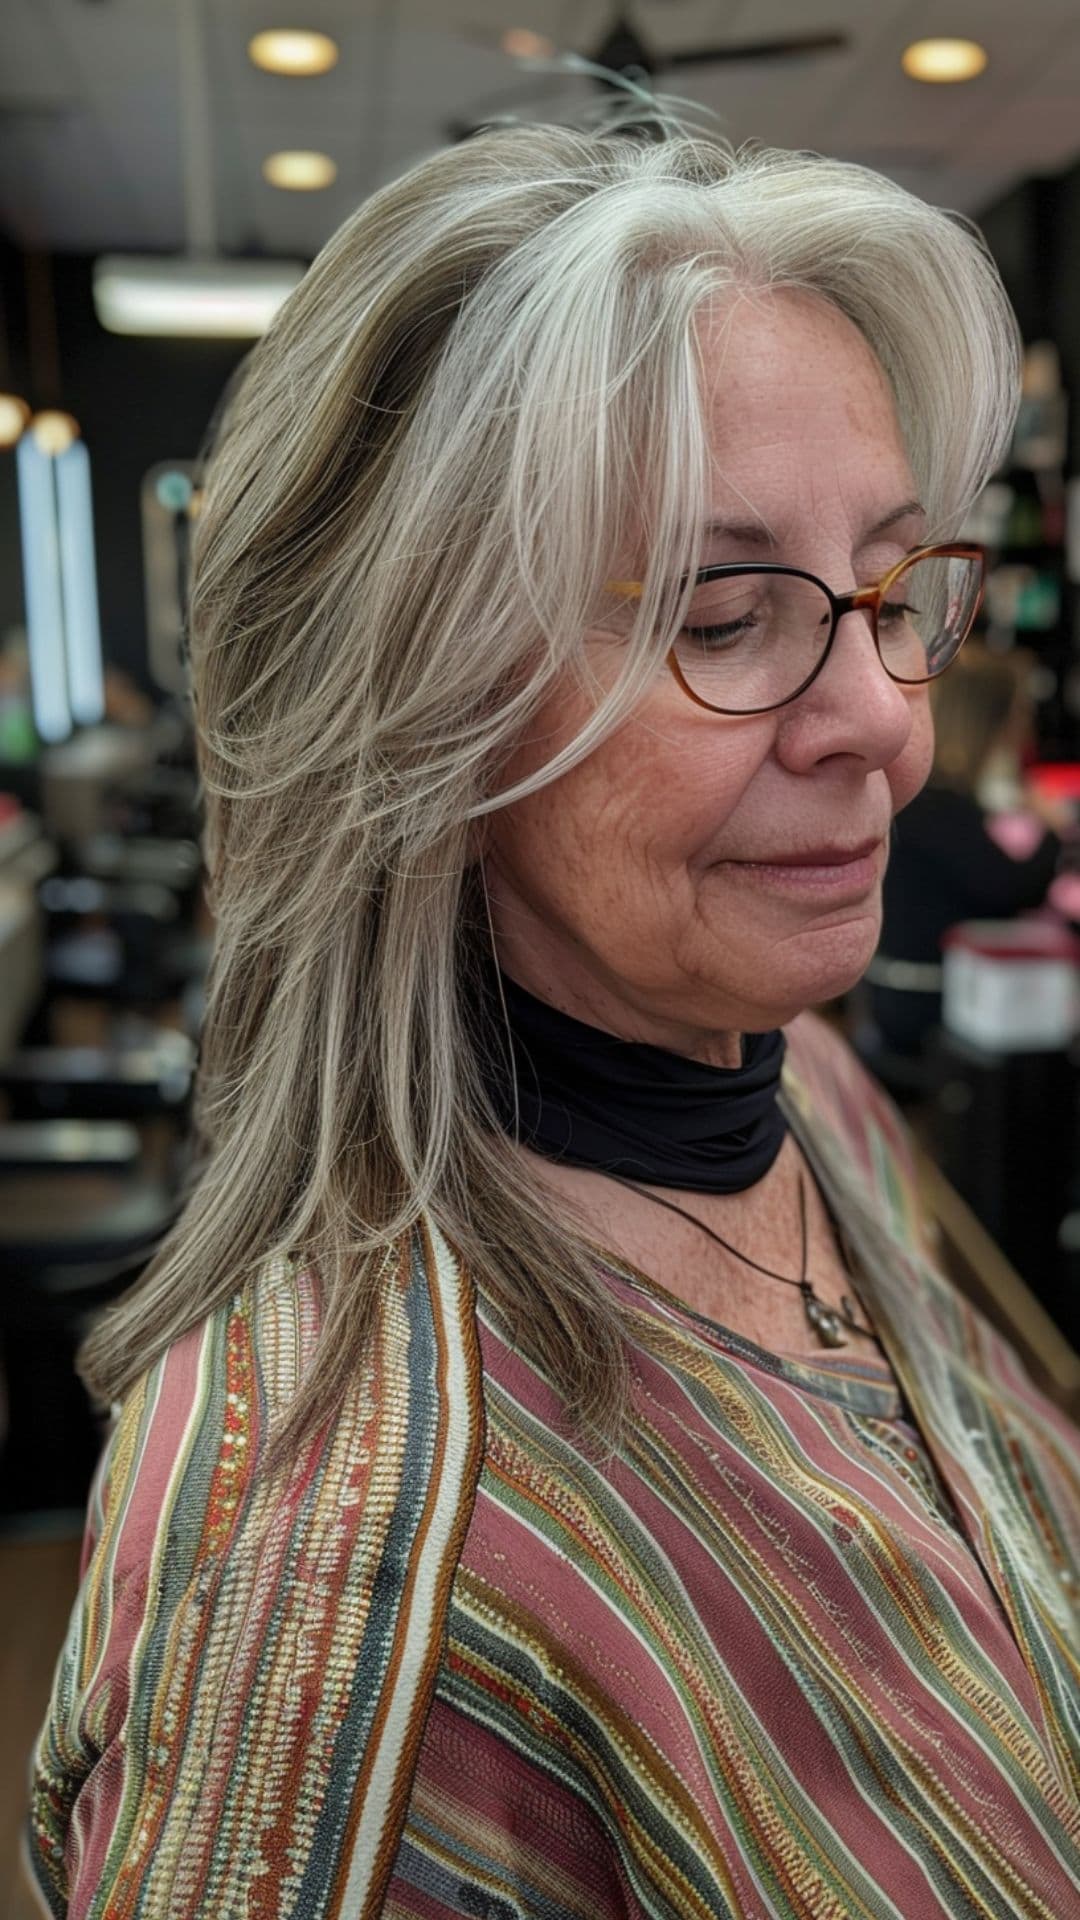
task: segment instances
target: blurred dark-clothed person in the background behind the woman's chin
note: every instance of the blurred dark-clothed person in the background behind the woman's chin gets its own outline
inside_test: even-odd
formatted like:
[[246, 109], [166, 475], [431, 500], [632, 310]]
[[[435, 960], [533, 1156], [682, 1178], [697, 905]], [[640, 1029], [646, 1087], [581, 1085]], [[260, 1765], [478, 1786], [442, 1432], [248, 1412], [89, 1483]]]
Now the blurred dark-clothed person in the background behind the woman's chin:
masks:
[[[1070, 810], [1022, 780], [1032, 666], [1028, 653], [970, 639], [930, 689], [934, 762], [894, 826], [882, 941], [865, 975], [874, 1027], [894, 1052], [920, 1054], [940, 1025], [942, 935], [961, 920], [1042, 906], [1057, 874]], [[990, 774], [1017, 804], [986, 804]]]

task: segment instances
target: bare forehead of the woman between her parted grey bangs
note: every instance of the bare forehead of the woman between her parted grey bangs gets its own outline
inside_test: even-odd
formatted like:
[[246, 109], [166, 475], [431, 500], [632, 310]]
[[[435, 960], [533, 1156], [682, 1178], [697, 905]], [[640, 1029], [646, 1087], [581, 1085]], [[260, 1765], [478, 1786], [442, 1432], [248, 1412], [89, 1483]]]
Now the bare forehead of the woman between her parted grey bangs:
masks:
[[911, 465], [886, 374], [847, 315], [792, 288], [740, 294], [698, 321], [719, 505], [767, 516], [867, 490], [886, 507]]

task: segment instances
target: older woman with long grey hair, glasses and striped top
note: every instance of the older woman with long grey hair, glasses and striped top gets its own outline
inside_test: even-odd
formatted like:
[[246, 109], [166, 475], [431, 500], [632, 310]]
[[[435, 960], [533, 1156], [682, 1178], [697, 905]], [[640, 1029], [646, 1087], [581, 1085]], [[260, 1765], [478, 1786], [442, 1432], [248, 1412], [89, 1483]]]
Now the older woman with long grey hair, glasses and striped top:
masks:
[[258, 346], [204, 1158], [85, 1350], [50, 1912], [1074, 1910], [1078, 1436], [805, 1012], [1015, 396], [963, 223], [690, 134], [438, 154]]

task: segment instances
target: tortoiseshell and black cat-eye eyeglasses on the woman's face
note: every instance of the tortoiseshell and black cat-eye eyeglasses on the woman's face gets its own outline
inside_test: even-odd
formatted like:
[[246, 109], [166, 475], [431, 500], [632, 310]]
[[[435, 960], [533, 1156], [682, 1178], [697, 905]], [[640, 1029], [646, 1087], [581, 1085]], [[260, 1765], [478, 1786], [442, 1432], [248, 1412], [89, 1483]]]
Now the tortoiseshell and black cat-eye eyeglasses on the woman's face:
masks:
[[[961, 651], [982, 603], [982, 547], [919, 547], [872, 588], [834, 593], [798, 566], [703, 566], [667, 664], [698, 707], [763, 714], [805, 693], [836, 628], [867, 616], [878, 659], [903, 687], [936, 680]], [[640, 599], [638, 580], [607, 591]], [[603, 622], [598, 622], [603, 628]]]

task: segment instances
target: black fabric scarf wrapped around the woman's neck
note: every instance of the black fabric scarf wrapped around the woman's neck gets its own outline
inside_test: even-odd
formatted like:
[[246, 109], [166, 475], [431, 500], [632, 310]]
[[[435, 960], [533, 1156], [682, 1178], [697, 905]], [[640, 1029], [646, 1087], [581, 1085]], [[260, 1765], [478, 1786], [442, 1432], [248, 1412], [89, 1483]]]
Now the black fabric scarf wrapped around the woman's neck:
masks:
[[[788, 1123], [776, 1092], [784, 1035], [746, 1033], [738, 1068], [711, 1068], [663, 1046], [621, 1041], [559, 1014], [500, 975], [479, 1012], [488, 1098], [511, 1139], [571, 1167], [653, 1187], [742, 1192], [780, 1152]], [[515, 1121], [517, 1081], [517, 1121]]]

